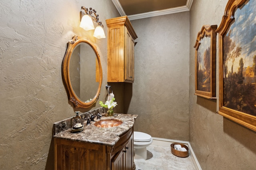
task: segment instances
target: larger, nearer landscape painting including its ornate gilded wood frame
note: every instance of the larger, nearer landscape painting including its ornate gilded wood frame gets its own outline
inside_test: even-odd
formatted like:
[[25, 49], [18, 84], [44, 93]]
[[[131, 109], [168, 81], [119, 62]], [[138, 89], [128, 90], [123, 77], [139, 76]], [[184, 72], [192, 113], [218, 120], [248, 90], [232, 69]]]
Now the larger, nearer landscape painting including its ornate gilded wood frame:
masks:
[[219, 111], [256, 131], [256, 1], [229, 0], [219, 33]]

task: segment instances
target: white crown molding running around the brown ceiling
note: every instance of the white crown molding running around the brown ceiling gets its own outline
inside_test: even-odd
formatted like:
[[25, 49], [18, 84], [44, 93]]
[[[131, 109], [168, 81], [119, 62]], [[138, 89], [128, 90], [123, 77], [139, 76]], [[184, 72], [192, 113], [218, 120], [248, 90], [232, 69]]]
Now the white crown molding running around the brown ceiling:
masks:
[[[126, 13], [124, 12], [124, 9], [122, 8], [119, 0], [112, 0], [112, 2], [116, 6], [116, 9], [118, 10], [119, 14], [121, 16], [126, 16]], [[129, 20], [138, 20], [138, 19], [142, 19], [142, 18], [149, 18], [149, 17], [154, 17], [154, 16], [162, 16], [162, 15], [174, 14], [174, 13], [178, 13], [178, 12], [185, 12], [185, 11], [190, 10], [190, 8], [192, 6], [192, 2], [193, 2], [193, 0], [187, 0], [186, 5], [184, 5], [184, 6], [168, 8], [165, 10], [145, 12], [145, 13], [141, 13], [141, 14], [129, 15], [128, 18], [129, 18]]]

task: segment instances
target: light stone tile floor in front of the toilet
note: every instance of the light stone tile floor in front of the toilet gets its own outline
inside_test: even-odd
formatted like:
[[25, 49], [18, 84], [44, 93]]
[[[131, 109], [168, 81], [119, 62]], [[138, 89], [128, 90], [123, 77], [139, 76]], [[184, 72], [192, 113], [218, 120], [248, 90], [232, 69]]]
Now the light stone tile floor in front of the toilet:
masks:
[[147, 154], [147, 160], [134, 160], [136, 170], [196, 170], [190, 155], [180, 158], [172, 154], [170, 147], [150, 145]]

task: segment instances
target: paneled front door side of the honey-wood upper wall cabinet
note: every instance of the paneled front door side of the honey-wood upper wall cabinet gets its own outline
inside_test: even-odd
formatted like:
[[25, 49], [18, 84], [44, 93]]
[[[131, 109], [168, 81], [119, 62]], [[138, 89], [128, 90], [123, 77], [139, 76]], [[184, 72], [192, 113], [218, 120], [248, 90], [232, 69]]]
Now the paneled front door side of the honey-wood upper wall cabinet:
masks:
[[134, 39], [125, 27], [125, 74], [124, 79], [134, 81]]

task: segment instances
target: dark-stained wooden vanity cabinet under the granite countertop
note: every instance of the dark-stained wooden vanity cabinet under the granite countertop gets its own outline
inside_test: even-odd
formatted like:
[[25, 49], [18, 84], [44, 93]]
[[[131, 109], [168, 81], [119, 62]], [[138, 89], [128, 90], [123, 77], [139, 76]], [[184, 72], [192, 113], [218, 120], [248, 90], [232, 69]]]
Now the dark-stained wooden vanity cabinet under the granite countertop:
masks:
[[55, 170], [133, 170], [133, 127], [114, 146], [54, 138]]

